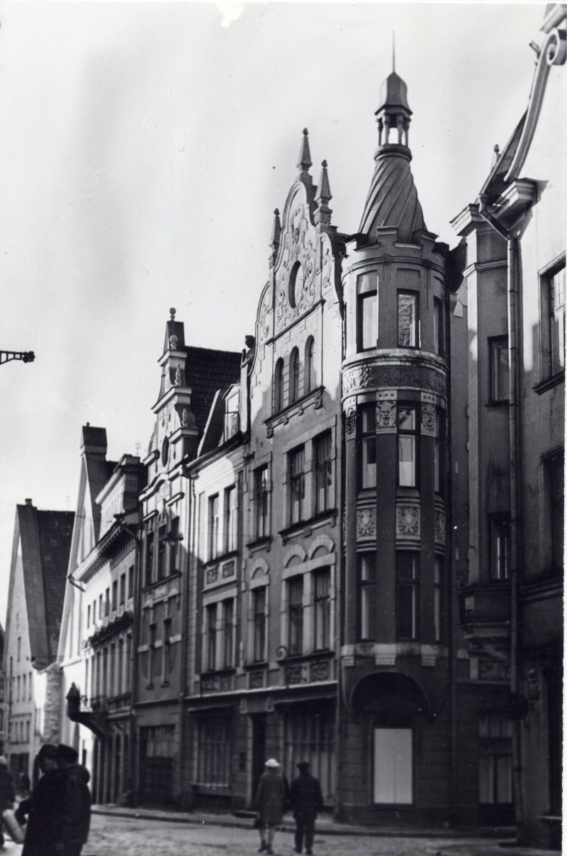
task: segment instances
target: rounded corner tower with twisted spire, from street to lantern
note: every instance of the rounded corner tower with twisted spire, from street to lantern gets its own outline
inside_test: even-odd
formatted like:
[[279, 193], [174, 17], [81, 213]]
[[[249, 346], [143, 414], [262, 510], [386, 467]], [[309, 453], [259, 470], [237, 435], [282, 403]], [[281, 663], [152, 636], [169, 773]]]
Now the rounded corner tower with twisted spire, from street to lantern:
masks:
[[344, 572], [338, 811], [445, 820], [449, 805], [447, 247], [410, 171], [403, 80], [385, 80], [379, 146], [343, 260]]

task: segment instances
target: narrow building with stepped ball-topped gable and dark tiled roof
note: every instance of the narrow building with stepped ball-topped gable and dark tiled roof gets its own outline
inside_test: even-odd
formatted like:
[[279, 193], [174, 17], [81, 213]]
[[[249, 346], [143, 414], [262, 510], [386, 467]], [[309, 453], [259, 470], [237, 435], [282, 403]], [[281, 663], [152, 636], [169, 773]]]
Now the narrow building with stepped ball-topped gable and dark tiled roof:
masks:
[[238, 382], [241, 372], [241, 354], [186, 346], [183, 324], [175, 316], [171, 309], [158, 360], [161, 383], [152, 407], [156, 420], [143, 461], [146, 487], [140, 493], [141, 554], [134, 603], [134, 798], [162, 805], [187, 801], [182, 796], [180, 699], [189, 681], [186, 628], [194, 608], [187, 588], [193, 500], [183, 472], [204, 436], [212, 437], [218, 390]]

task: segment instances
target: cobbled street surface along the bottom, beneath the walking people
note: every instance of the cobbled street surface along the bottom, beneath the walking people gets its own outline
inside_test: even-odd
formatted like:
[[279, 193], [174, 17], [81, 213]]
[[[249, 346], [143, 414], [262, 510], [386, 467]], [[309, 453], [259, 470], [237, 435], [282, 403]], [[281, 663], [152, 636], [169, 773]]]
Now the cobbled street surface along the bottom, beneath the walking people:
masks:
[[[93, 814], [91, 834], [83, 856], [250, 856], [259, 845], [258, 833], [251, 821], [238, 826], [226, 825], [229, 817], [200, 815], [188, 821], [170, 817], [127, 817], [116, 813]], [[236, 821], [236, 818], [234, 818]], [[219, 825], [218, 820], [224, 821]], [[182, 821], [182, 822], [179, 822]], [[198, 822], [194, 822], [198, 821]], [[7, 841], [9, 856], [20, 856], [21, 846]], [[278, 830], [274, 841], [277, 856], [293, 856], [291, 827]], [[476, 837], [452, 837], [450, 832], [410, 836], [355, 834], [341, 829], [340, 834], [321, 829], [315, 834], [315, 856], [557, 856], [557, 852], [514, 847], [498, 847], [498, 840]]]

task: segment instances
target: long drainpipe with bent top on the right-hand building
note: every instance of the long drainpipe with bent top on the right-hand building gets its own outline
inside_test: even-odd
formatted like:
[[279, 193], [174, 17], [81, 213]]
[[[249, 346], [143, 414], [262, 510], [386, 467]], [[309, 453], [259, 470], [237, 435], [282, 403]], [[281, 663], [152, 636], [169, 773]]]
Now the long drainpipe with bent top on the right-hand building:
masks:
[[[496, 217], [487, 210], [486, 196], [480, 197], [479, 214], [492, 229], [506, 241], [507, 294], [508, 294], [508, 366], [509, 366], [509, 428], [510, 428], [510, 692], [520, 692], [519, 652], [519, 571], [520, 571], [520, 431], [519, 431], [519, 329], [518, 329], [518, 276], [517, 241]], [[518, 840], [522, 839], [522, 724], [513, 720], [512, 729], [512, 781]]]

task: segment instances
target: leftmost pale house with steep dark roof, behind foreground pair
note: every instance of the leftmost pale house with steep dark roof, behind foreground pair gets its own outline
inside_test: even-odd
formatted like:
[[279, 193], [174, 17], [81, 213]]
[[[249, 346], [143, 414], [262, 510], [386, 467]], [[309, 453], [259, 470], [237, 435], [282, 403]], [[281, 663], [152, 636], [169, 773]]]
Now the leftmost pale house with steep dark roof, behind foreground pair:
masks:
[[39, 746], [56, 742], [61, 681], [57, 651], [74, 514], [16, 506], [4, 640], [4, 753], [17, 780], [32, 776]]

